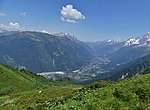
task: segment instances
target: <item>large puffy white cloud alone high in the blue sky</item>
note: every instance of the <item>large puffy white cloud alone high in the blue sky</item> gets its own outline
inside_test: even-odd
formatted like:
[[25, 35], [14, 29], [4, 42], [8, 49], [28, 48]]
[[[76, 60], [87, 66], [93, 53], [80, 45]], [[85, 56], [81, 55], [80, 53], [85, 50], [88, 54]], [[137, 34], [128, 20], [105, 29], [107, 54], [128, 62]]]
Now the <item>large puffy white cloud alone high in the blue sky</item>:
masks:
[[74, 9], [73, 5], [62, 7], [60, 14], [61, 20], [65, 22], [77, 23], [85, 19], [85, 16], [77, 9]]

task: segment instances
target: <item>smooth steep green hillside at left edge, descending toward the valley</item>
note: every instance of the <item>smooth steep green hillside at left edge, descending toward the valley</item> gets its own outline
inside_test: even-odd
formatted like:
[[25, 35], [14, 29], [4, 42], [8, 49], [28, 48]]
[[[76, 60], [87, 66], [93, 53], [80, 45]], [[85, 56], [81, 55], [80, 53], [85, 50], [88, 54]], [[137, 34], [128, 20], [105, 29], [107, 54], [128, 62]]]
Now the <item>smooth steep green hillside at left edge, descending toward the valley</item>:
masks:
[[26, 70], [0, 65], [0, 96], [42, 88], [49, 82], [49, 80]]

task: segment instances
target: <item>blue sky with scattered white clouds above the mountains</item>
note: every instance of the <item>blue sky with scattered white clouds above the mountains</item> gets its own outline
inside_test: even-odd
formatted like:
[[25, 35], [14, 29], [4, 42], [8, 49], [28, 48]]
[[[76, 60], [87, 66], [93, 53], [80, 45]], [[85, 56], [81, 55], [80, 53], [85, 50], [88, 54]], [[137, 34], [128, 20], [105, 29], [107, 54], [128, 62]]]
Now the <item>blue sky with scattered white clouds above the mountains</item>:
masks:
[[149, 4], [150, 0], [0, 0], [0, 25], [68, 32], [84, 41], [124, 39], [150, 31]]

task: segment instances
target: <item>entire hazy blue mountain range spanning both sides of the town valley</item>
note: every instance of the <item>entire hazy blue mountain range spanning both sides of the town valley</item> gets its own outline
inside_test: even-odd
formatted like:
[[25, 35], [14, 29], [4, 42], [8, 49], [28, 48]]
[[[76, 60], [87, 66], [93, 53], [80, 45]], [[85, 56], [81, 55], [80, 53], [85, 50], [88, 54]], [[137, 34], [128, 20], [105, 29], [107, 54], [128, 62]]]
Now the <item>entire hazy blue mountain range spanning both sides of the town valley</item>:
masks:
[[[57, 78], [56, 73], [63, 72], [59, 78], [69, 77], [78, 82], [119, 80], [125, 75], [121, 70], [149, 55], [149, 50], [150, 33], [126, 40], [97, 42], [83, 42], [68, 33], [0, 33], [0, 63], [34, 73], [50, 72], [46, 75], [49, 78]], [[119, 77], [115, 72], [119, 72]]]

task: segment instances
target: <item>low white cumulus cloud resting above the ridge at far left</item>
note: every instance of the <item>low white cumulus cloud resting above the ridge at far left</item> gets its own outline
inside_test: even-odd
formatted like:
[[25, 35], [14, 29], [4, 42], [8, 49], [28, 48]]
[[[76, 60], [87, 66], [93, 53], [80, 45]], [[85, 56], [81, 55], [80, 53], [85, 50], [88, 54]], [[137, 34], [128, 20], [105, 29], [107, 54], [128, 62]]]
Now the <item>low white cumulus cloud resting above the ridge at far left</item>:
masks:
[[15, 22], [11, 22], [8, 25], [4, 25], [4, 24], [0, 24], [0, 30], [6, 30], [6, 31], [21, 31], [24, 28], [20, 26], [19, 23]]

